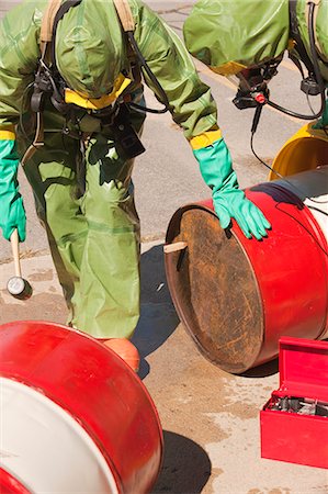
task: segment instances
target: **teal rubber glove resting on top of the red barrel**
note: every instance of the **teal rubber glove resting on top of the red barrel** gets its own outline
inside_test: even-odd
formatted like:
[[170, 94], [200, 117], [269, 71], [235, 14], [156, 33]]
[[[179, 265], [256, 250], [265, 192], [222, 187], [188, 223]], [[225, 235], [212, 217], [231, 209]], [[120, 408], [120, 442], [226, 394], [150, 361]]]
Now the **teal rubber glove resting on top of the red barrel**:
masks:
[[220, 226], [227, 228], [235, 218], [247, 238], [267, 237], [270, 223], [263, 213], [239, 189], [233, 170], [230, 153], [223, 138], [201, 149], [194, 149], [202, 177], [212, 189], [215, 212]]

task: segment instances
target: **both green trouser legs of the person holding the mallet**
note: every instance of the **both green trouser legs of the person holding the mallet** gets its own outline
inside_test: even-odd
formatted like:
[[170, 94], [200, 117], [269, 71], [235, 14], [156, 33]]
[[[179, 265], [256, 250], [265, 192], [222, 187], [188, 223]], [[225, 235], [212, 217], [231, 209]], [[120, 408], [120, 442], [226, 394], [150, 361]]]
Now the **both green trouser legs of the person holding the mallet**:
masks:
[[134, 160], [94, 134], [86, 153], [87, 190], [76, 199], [78, 149], [78, 141], [46, 132], [25, 173], [70, 311], [68, 324], [99, 338], [129, 338], [139, 318]]

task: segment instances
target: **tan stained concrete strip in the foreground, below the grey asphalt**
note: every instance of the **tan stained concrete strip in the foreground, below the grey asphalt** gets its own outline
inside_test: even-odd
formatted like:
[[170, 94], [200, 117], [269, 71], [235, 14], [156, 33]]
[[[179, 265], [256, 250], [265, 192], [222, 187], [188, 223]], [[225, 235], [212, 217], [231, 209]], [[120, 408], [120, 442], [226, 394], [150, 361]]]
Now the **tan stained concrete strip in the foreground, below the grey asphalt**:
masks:
[[[0, 265], [0, 324], [65, 323], [66, 306], [49, 255], [24, 258], [22, 269], [34, 290], [26, 302], [7, 293], [12, 262]], [[261, 459], [259, 411], [279, 386], [276, 360], [242, 377], [214, 367], [179, 323], [161, 243], [143, 245], [142, 276], [142, 317], [134, 343], [142, 355], [139, 375], [165, 435], [163, 465], [152, 494], [327, 493], [326, 470]]]

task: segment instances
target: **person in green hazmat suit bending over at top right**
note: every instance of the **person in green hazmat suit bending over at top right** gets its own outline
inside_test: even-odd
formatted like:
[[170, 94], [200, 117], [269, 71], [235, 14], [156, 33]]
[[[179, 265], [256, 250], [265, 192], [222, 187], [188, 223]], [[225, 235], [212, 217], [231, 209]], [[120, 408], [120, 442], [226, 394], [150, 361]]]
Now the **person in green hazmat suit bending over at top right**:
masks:
[[[237, 108], [269, 103], [299, 119], [320, 116], [314, 128], [327, 133], [327, 0], [199, 0], [184, 22], [183, 35], [195, 58], [214, 72], [237, 80]], [[301, 89], [320, 96], [317, 114], [299, 114], [270, 101], [265, 86], [285, 53], [302, 72]]]

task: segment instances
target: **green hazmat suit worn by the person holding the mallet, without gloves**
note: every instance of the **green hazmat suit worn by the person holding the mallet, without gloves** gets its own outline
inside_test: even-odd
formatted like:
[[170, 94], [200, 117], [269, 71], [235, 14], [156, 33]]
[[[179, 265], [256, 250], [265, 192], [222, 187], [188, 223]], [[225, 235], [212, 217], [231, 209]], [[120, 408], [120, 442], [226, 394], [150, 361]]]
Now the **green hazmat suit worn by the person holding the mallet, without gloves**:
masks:
[[[225, 147], [211, 90], [199, 79], [181, 40], [147, 5], [138, 0], [129, 4], [136, 43], [168, 97], [174, 122], [191, 144], [196, 139], [197, 148], [212, 147], [212, 132]], [[4, 153], [8, 146], [8, 134], [15, 136], [20, 156], [34, 136], [29, 94], [41, 57], [46, 7], [47, 0], [25, 0], [0, 24], [0, 158], [1, 149]], [[128, 71], [126, 46], [113, 2], [82, 0], [58, 23], [57, 67], [80, 97], [102, 98], [112, 92], [120, 74]], [[147, 75], [145, 81], [157, 93]], [[133, 81], [117, 98], [140, 103], [143, 87]], [[129, 109], [131, 124], [139, 135], [144, 119], [145, 114]], [[80, 139], [75, 134], [81, 133], [88, 138], [86, 192], [79, 197], [76, 156]], [[99, 338], [129, 338], [139, 317], [139, 220], [134, 204], [133, 164], [117, 146], [112, 128], [102, 125], [92, 111], [75, 109], [73, 119], [68, 119], [47, 102], [44, 146], [24, 167], [70, 311], [68, 324]], [[215, 166], [220, 169], [219, 156]], [[0, 194], [1, 176], [0, 159]], [[234, 188], [238, 188], [237, 180]], [[18, 199], [16, 189], [14, 201]]]

